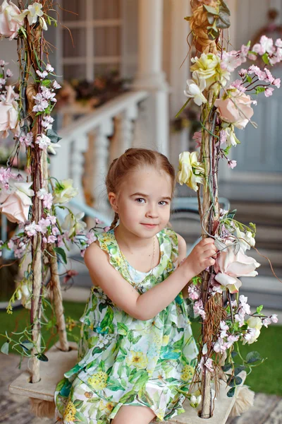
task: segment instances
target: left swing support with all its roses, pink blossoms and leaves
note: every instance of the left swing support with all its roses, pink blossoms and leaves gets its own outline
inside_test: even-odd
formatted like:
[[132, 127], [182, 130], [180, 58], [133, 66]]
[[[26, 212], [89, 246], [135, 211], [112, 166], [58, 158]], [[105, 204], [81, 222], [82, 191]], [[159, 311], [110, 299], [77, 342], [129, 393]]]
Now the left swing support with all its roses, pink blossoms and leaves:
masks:
[[[25, 266], [7, 312], [11, 314], [13, 303], [20, 299], [31, 310], [31, 325], [17, 337], [1, 334], [6, 338], [1, 352], [8, 354], [12, 348], [32, 358], [35, 364], [32, 382], [36, 382], [38, 360], [48, 360], [40, 328], [55, 326], [66, 351], [66, 329], [73, 328], [73, 320], [65, 322], [63, 317], [57, 263], [66, 266], [69, 243], [76, 245], [83, 257], [95, 237], [93, 232], [85, 232], [84, 213], [75, 214], [65, 205], [78, 194], [73, 181], [58, 181], [48, 172], [51, 155], [56, 155], [60, 147], [60, 137], [52, 128], [51, 112], [56, 105], [56, 90], [61, 86], [49, 63], [48, 43], [44, 39], [48, 25], [56, 26], [56, 20], [49, 16], [49, 11], [55, 9], [50, 0], [27, 2], [27, 8], [21, 0], [18, 3], [19, 7], [4, 0], [0, 6], [0, 36], [16, 40], [20, 64], [16, 88], [8, 82], [13, 74], [6, 69], [7, 62], [0, 61], [0, 137], [12, 134], [14, 138], [7, 166], [0, 169], [0, 210], [12, 223], [18, 223], [16, 234], [10, 240], [0, 241], [0, 256], [4, 249], [9, 250], [20, 266]], [[25, 151], [25, 163], [20, 164], [22, 151]], [[18, 164], [18, 170], [13, 168], [14, 163]], [[20, 165], [24, 172], [20, 172]], [[63, 223], [59, 221], [61, 209], [67, 213]], [[104, 228], [101, 224], [96, 220], [97, 228]], [[27, 262], [30, 263], [26, 265]], [[74, 275], [74, 270], [66, 271], [63, 281], [67, 283]], [[56, 315], [51, 324], [42, 319], [48, 307]]]

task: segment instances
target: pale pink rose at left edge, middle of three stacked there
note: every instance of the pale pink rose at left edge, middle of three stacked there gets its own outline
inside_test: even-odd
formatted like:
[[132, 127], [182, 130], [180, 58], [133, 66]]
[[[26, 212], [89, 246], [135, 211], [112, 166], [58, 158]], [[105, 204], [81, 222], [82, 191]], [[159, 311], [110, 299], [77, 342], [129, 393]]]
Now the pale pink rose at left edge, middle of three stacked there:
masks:
[[8, 129], [15, 136], [20, 135], [20, 125], [18, 122], [18, 103], [15, 100], [16, 93], [12, 86], [8, 86], [6, 100], [0, 102], [0, 138], [8, 137]]

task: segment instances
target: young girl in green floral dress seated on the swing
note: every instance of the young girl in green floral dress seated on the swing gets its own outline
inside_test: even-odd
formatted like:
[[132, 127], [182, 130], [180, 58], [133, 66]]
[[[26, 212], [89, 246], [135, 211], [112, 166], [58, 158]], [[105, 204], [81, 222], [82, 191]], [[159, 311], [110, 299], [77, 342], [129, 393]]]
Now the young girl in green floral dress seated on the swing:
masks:
[[185, 240], [167, 227], [174, 185], [157, 151], [130, 148], [109, 168], [115, 218], [85, 252], [94, 285], [80, 361], [56, 388], [64, 424], [148, 424], [184, 412], [197, 347], [182, 290], [214, 264], [216, 247], [206, 238], [185, 259]]

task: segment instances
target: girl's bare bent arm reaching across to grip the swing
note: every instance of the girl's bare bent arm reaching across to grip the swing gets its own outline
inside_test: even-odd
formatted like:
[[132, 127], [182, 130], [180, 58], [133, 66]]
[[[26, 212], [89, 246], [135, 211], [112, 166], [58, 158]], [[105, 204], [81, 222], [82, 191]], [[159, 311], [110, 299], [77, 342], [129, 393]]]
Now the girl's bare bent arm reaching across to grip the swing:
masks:
[[215, 252], [212, 238], [202, 240], [176, 271], [142, 295], [109, 264], [109, 255], [96, 242], [87, 247], [85, 264], [93, 283], [99, 285], [114, 304], [131, 317], [145, 321], [164, 310], [193, 276], [213, 265], [211, 257]]

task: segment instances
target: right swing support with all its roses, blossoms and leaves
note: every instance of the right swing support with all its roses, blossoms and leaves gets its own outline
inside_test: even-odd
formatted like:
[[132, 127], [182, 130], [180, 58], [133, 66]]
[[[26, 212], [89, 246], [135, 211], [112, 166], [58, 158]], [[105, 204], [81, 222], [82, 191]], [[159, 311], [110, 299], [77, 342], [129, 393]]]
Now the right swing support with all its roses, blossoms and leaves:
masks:
[[[255, 277], [260, 265], [247, 255], [255, 248], [256, 228], [253, 223], [247, 227], [235, 220], [236, 211], [219, 208], [217, 179], [221, 159], [230, 168], [236, 166], [228, 157], [232, 148], [240, 148], [235, 129], [244, 129], [247, 124], [257, 127], [252, 115], [258, 95], [269, 98], [280, 88], [281, 81], [270, 68], [282, 59], [282, 40], [263, 35], [255, 45], [248, 42], [240, 50], [228, 52], [222, 42], [230, 25], [228, 6], [222, 0], [192, 0], [191, 6], [192, 16], [185, 19], [190, 22], [197, 56], [191, 59], [191, 77], [184, 91], [188, 101], [180, 112], [191, 100], [195, 102], [200, 107], [202, 131], [193, 136], [199, 151], [180, 154], [178, 182], [197, 192], [202, 235], [213, 237], [219, 249], [214, 266], [194, 278], [189, 288], [193, 310], [202, 322], [197, 375], [201, 416], [209, 418], [214, 408], [211, 382], [217, 391], [223, 377], [232, 397], [242, 383], [238, 374], [242, 370], [249, 373], [263, 362], [257, 352], [243, 359], [239, 343], [254, 343], [262, 326], [277, 322], [276, 315], [263, 314], [262, 305], [251, 312], [247, 298], [239, 295], [239, 278]], [[245, 66], [247, 61], [255, 64]]]

